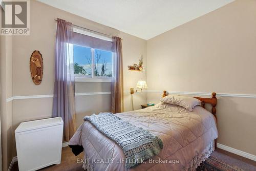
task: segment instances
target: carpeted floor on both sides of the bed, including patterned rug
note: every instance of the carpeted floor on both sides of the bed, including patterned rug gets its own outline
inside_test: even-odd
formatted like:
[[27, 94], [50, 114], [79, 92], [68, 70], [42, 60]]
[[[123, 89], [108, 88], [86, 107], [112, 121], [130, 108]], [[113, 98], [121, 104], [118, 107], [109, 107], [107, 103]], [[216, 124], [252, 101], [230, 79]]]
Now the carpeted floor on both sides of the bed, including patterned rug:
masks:
[[[82, 153], [77, 157], [74, 156], [69, 147], [62, 148], [61, 163], [58, 165], [52, 165], [46, 167], [44, 171], [56, 170], [56, 171], [84, 171], [82, 164], [77, 164], [77, 159], [82, 158]], [[204, 161], [197, 171], [255, 171], [256, 162], [246, 159], [244, 157], [226, 152], [217, 148], [215, 152], [211, 154], [211, 157]], [[11, 171], [18, 171], [18, 164], [15, 163]]]

